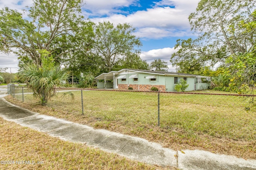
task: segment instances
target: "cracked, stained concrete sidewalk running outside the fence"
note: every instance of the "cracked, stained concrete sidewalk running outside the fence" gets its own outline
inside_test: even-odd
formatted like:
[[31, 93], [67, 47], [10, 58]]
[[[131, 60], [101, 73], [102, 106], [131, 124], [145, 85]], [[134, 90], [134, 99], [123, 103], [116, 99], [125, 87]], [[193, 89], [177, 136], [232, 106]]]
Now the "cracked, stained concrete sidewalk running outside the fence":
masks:
[[138, 137], [40, 115], [6, 102], [3, 96], [0, 95], [0, 117], [65, 141], [86, 143], [91, 147], [162, 167], [172, 166], [182, 170], [256, 170], [256, 160], [244, 160], [203, 150], [181, 152], [163, 148], [158, 143]]

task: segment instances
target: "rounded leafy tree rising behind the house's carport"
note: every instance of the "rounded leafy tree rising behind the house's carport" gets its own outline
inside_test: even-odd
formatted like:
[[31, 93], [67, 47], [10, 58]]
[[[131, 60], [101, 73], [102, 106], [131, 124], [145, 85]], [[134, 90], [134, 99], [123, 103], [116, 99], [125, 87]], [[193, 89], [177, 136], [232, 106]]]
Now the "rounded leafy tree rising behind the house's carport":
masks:
[[[100, 56], [105, 66], [110, 71], [115, 64], [130, 59], [132, 63], [135, 59], [140, 60], [140, 39], [133, 35], [135, 28], [128, 23], [114, 26], [109, 21], [100, 22], [95, 27], [94, 54]], [[134, 58], [134, 59], [133, 59]], [[122, 61], [120, 61], [122, 60]], [[136, 60], [138, 61], [138, 60]], [[140, 62], [137, 62], [140, 64]], [[142, 64], [143, 61], [141, 61]]]

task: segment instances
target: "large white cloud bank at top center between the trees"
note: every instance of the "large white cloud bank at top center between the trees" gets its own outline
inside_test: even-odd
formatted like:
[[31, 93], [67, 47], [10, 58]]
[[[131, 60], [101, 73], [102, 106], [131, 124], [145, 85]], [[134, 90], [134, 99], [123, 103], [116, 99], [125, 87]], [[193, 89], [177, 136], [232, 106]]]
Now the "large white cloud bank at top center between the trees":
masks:
[[[188, 16], [196, 10], [199, 0], [163, 0], [154, 8], [137, 11], [128, 16], [113, 14], [104, 18], [92, 18], [94, 22], [130, 23], [137, 28], [136, 36], [159, 39], [162, 37], [182, 37], [192, 35]], [[169, 5], [169, 6], [166, 6]], [[172, 8], [170, 6], [175, 6]]]

